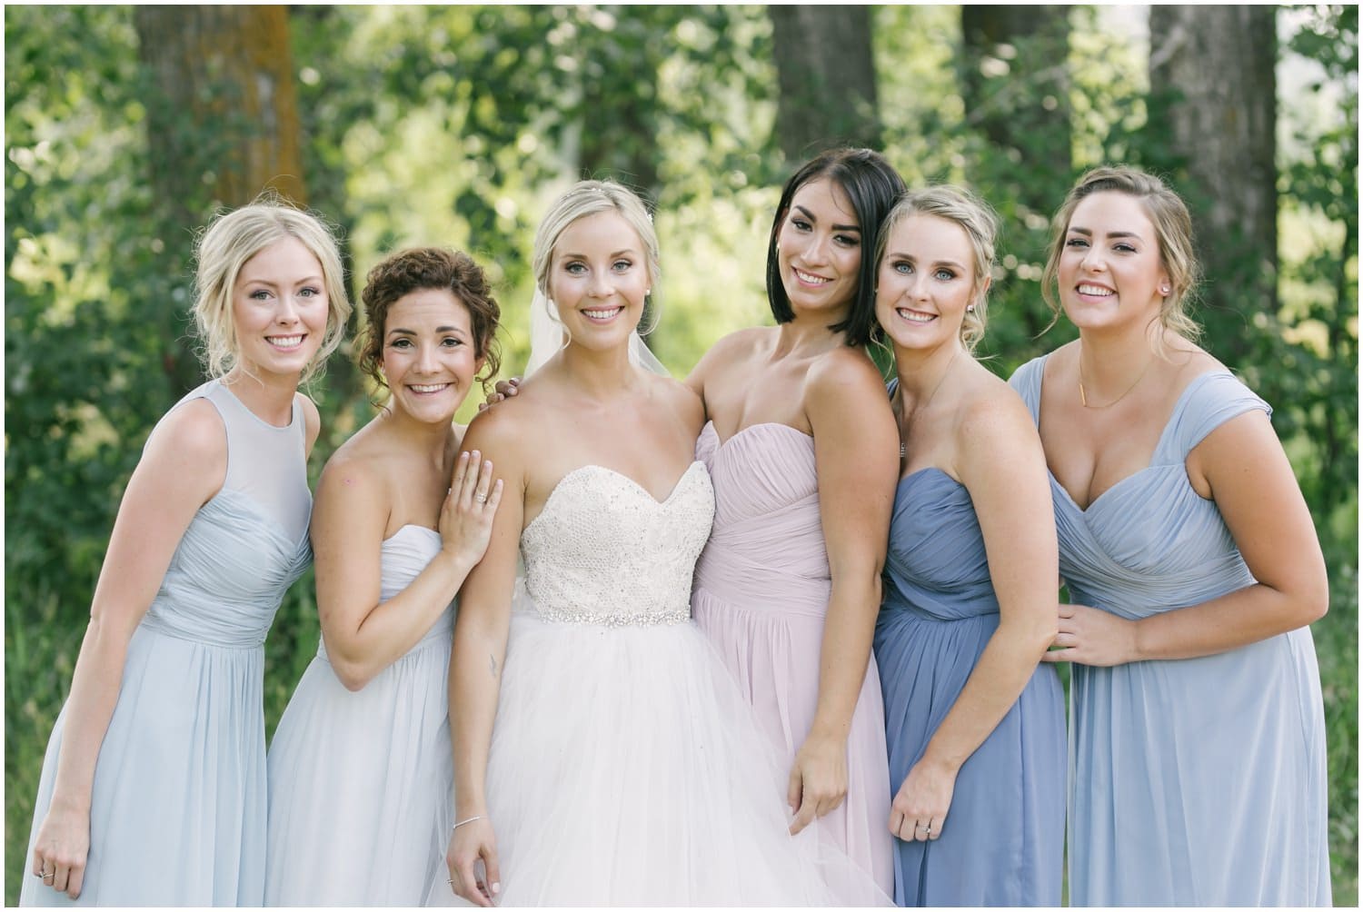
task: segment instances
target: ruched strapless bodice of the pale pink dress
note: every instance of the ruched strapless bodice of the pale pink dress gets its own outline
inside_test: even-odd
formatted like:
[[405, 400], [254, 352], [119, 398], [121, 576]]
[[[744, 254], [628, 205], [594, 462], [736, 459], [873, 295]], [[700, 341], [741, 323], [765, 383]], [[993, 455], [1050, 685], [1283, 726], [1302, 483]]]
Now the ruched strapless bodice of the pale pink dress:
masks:
[[[696, 585], [725, 598], [782, 613], [822, 618], [829, 609], [829, 553], [819, 513], [814, 438], [785, 424], [754, 424], [720, 442], [713, 423], [696, 458], [714, 478], [710, 545]], [[770, 598], [773, 586], [780, 600]]]

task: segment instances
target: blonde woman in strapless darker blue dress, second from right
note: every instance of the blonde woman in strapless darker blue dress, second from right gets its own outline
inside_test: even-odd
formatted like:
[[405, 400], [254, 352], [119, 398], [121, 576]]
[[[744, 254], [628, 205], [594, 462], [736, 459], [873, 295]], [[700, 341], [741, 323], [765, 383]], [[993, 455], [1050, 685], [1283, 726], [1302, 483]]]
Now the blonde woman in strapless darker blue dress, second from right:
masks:
[[998, 219], [953, 187], [904, 198], [876, 251], [901, 440], [875, 657], [900, 905], [1060, 904], [1065, 703], [1045, 458], [973, 357]]

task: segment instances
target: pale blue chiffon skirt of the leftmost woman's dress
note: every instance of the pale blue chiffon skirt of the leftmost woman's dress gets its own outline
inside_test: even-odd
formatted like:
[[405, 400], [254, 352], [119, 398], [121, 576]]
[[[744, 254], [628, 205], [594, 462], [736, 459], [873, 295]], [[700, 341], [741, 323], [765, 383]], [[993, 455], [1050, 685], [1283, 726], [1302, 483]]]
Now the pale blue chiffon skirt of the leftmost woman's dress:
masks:
[[42, 763], [20, 905], [260, 905], [266, 758], [259, 646], [189, 642], [143, 622], [99, 746], [80, 898], [31, 874], [65, 709]]

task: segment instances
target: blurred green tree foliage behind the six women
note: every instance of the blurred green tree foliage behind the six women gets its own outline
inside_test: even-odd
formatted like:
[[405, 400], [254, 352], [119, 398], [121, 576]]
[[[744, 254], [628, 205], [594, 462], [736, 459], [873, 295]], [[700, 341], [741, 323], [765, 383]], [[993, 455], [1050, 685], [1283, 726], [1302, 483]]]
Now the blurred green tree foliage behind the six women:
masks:
[[[875, 7], [883, 149], [908, 183], [964, 183], [1005, 222], [987, 363], [1000, 375], [1073, 338], [1041, 303], [1051, 209], [1078, 172], [1169, 174], [1148, 124], [1145, 49], [1122, 8], [962, 40], [957, 7]], [[523, 365], [529, 256], [549, 199], [583, 174], [641, 185], [664, 248], [654, 349], [686, 374], [769, 320], [762, 266], [793, 168], [765, 7], [293, 7], [309, 204], [345, 237], [352, 290], [410, 244], [470, 251], [497, 284], [506, 374]], [[1358, 10], [1278, 11], [1277, 312], [1199, 311], [1213, 353], [1274, 405], [1319, 526], [1330, 613], [1315, 626], [1330, 732], [1336, 902], [1358, 898]], [[1014, 34], [1017, 33], [1017, 34]], [[1024, 34], [1025, 33], [1025, 34]], [[1000, 37], [1002, 35], [1002, 37]], [[5, 10], [5, 878], [18, 898], [42, 751], [70, 686], [113, 514], [151, 425], [183, 390], [192, 232], [211, 181], [168, 224], [150, 180], [154, 82], [128, 7]], [[1304, 74], [1296, 82], [1284, 74]], [[962, 90], [962, 85], [966, 87]], [[969, 102], [966, 101], [969, 97]], [[1070, 154], [1035, 135], [1067, 112]], [[620, 116], [613, 116], [619, 112]], [[225, 147], [222, 123], [184, 124]], [[200, 131], [194, 135], [192, 131]], [[1204, 239], [1214, 243], [1214, 239]], [[1249, 266], [1247, 266], [1249, 269]], [[360, 316], [352, 330], [360, 323]], [[1050, 329], [1047, 329], [1050, 327]], [[1225, 346], [1228, 338], [1235, 346]], [[313, 474], [372, 414], [348, 352], [309, 390]], [[472, 414], [474, 404], [461, 413]], [[311, 575], [267, 641], [273, 728], [316, 649]]]

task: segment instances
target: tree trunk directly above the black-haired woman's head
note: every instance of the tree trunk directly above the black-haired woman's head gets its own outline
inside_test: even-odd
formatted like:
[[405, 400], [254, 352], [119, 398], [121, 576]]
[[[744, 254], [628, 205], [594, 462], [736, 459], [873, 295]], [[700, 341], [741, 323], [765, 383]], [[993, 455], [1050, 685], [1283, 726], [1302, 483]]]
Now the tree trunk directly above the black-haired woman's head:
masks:
[[767, 7], [776, 57], [776, 130], [800, 161], [842, 145], [880, 145], [871, 8]]

